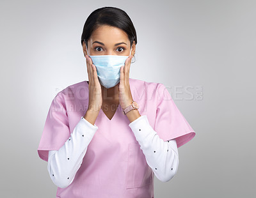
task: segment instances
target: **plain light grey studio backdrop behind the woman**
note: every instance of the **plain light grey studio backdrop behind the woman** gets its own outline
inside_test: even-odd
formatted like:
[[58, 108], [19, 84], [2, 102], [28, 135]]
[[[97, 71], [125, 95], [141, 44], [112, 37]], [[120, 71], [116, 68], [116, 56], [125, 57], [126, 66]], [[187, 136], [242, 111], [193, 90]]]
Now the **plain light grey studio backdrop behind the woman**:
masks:
[[[88, 15], [116, 6], [138, 34], [130, 77], [161, 82], [196, 132], [155, 197], [255, 197], [256, 1], [1, 1], [1, 197], [55, 197], [37, 153], [56, 92], [88, 80]], [[254, 122], [253, 122], [254, 121]]]

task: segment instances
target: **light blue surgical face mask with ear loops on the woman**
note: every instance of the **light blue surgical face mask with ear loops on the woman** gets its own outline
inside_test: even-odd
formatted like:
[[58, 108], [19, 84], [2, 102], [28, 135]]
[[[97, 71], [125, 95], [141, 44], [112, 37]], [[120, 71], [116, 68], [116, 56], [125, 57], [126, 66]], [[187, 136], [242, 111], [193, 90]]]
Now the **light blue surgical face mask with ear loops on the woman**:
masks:
[[[88, 49], [86, 46], [88, 53]], [[131, 56], [132, 49], [130, 51]], [[88, 54], [88, 56], [90, 56]], [[97, 75], [99, 82], [105, 88], [113, 88], [120, 82], [120, 68], [124, 65], [125, 60], [129, 56], [119, 55], [100, 55], [90, 56], [92, 58], [93, 65], [97, 68]]]

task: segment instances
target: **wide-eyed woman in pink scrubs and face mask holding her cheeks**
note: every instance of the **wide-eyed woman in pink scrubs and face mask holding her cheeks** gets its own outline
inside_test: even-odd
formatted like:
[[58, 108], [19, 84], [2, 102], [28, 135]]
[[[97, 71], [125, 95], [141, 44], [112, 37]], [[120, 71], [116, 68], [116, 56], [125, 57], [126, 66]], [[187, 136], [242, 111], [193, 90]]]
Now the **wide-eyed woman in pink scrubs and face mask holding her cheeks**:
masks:
[[165, 86], [131, 79], [137, 36], [119, 8], [93, 11], [81, 44], [88, 73], [52, 100], [38, 155], [56, 197], [154, 197], [154, 175], [177, 173], [193, 128]]

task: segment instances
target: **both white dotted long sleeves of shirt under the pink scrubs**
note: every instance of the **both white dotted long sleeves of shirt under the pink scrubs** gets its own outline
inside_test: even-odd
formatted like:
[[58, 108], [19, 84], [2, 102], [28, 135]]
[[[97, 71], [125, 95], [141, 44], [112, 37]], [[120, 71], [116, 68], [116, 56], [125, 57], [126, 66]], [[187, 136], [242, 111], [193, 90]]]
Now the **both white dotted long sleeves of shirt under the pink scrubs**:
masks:
[[[129, 126], [156, 177], [163, 182], [172, 179], [179, 166], [175, 139], [164, 142], [150, 126], [146, 115], [135, 119]], [[56, 186], [66, 188], [72, 183], [97, 130], [98, 126], [81, 117], [65, 144], [58, 151], [49, 151], [47, 170]]]

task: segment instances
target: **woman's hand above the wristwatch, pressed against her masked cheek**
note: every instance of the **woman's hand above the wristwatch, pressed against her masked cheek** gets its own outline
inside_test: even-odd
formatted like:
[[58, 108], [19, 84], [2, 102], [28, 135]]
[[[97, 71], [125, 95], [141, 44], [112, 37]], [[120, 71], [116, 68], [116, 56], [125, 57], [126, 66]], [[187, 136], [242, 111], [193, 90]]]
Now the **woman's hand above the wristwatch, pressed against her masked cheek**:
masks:
[[120, 68], [120, 84], [118, 86], [118, 96], [120, 106], [123, 110], [131, 105], [133, 100], [129, 83], [131, 59], [132, 56], [127, 57], [124, 66], [121, 66]]

